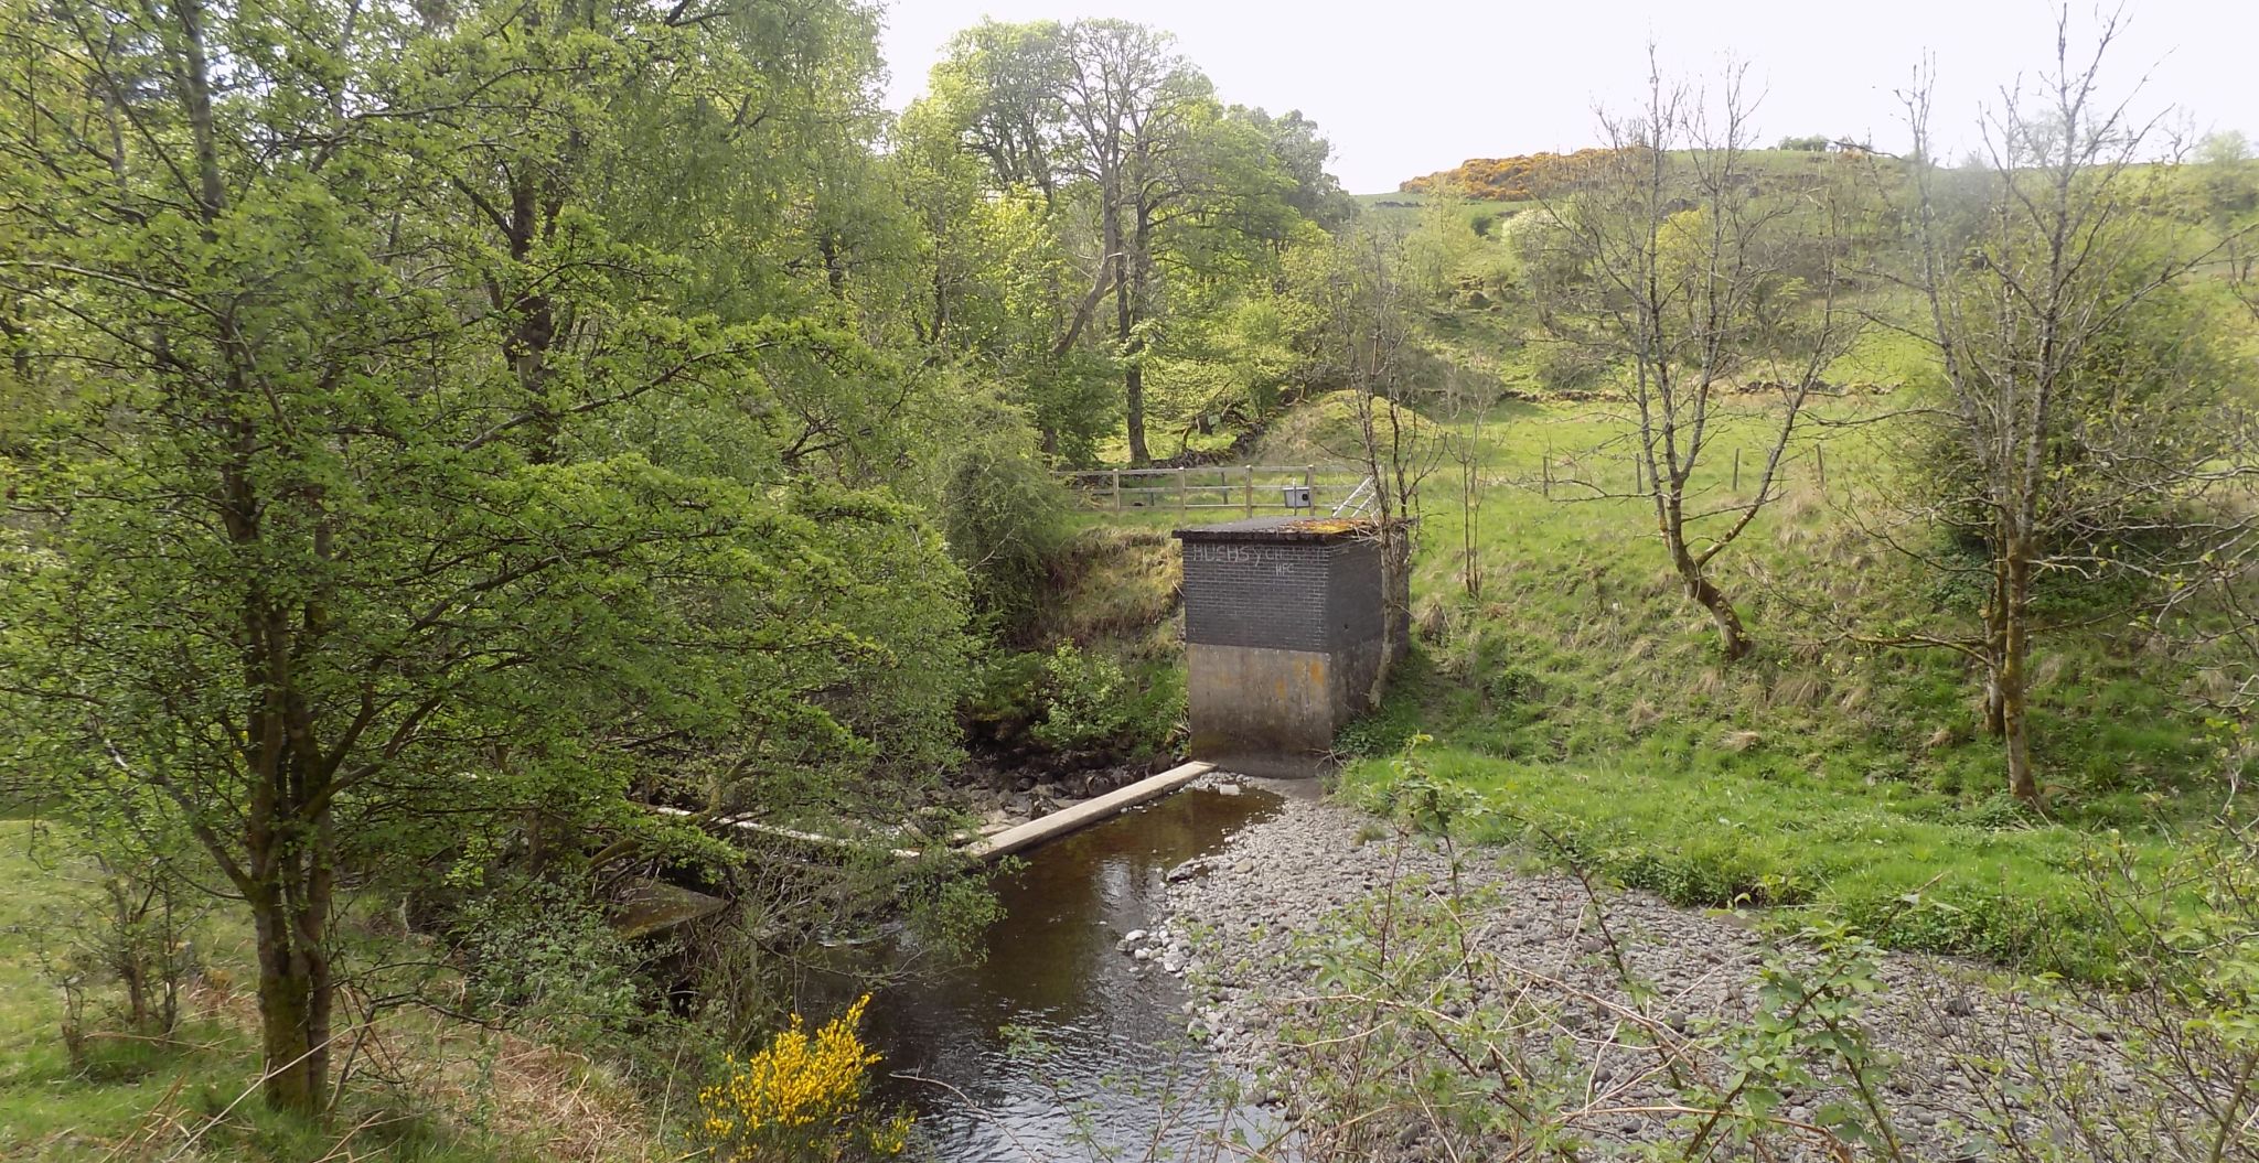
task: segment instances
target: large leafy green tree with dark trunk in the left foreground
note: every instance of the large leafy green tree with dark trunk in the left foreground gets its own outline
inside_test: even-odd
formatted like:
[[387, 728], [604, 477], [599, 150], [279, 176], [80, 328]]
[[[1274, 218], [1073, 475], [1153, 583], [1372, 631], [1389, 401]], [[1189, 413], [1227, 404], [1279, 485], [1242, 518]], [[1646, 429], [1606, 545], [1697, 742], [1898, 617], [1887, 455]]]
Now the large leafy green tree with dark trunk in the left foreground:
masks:
[[768, 86], [718, 9], [562, 16], [0, 16], [0, 289], [75, 375], [9, 445], [11, 732], [66, 802], [197, 840], [278, 1109], [328, 1104], [341, 894], [689, 842], [628, 788], [788, 815], [949, 754], [958, 574], [818, 472], [874, 413], [809, 388], [883, 366], [682, 309], [718, 271], [608, 165], [635, 115]]

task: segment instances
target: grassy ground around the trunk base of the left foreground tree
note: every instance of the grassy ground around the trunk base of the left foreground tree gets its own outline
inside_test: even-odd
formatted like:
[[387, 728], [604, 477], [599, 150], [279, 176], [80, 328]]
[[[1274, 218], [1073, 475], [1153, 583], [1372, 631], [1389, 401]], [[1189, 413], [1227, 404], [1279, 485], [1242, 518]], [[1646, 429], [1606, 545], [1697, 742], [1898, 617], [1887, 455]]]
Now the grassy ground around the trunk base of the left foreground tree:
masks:
[[[194, 937], [203, 971], [169, 1039], [133, 1037], [88, 989], [84, 1059], [63, 1046], [50, 973], [95, 912], [95, 869], [54, 824], [0, 811], [0, 1158], [492, 1163], [657, 1158], [635, 1102], [585, 1059], [477, 1028], [400, 1014], [377, 1039], [393, 1082], [364, 1075], [321, 1127], [237, 1102], [258, 1079], [242, 926]], [[364, 1059], [366, 1064], [366, 1059]], [[233, 1109], [230, 1109], [233, 1107]], [[219, 1118], [226, 1111], [226, 1118]]]

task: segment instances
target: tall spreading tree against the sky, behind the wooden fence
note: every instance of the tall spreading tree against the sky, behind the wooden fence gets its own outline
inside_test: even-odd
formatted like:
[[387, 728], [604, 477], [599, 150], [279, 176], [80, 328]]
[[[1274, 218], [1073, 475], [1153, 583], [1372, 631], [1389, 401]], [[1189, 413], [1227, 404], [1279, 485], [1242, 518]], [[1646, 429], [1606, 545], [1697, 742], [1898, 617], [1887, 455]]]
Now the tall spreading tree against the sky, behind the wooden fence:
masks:
[[[1148, 463], [1157, 404], [1197, 400], [1209, 416], [1224, 391], [1204, 357], [1274, 348], [1281, 327], [1265, 318], [1279, 314], [1267, 300], [1285, 291], [1285, 255], [1324, 237], [1312, 219], [1353, 210], [1324, 172], [1331, 147], [1315, 124], [1220, 106], [1166, 34], [1123, 20], [983, 23], [951, 43], [901, 131], [917, 172], [904, 187], [935, 262], [951, 266], [935, 269], [949, 291], [935, 287], [933, 314], [989, 318], [1014, 300], [960, 350], [1008, 375], [1055, 456], [1087, 456], [1098, 429], [1120, 422], [1132, 461]], [[1050, 327], [1044, 352], [1028, 346], [1035, 323]], [[1109, 339], [1091, 343], [1100, 327]], [[1120, 384], [1109, 406], [1091, 393], [1100, 359]]]

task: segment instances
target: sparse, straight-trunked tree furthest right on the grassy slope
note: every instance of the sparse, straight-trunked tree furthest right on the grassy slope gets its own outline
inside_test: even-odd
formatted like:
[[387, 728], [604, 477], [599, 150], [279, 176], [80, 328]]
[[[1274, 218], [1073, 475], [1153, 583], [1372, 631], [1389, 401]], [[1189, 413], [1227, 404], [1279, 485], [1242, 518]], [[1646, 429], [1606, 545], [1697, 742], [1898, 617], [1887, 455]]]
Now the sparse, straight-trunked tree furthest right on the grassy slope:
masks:
[[[2214, 251], [2148, 210], [2171, 174], [2142, 160], [2151, 124], [2103, 95], [2117, 32], [2105, 20], [2081, 56], [2058, 16], [2053, 70], [1983, 124], [1988, 165], [1963, 176], [1981, 183], [1968, 203], [1913, 167], [1920, 334], [1943, 368], [1922, 420], [1952, 465], [1920, 504], [1977, 537], [1986, 596], [1977, 635], [1900, 641], [1981, 666], [1986, 727], [2026, 802], [2040, 802], [2031, 657], [2051, 628], [2038, 587], [2203, 558], [2203, 528], [2184, 517], [2234, 474], [2221, 461], [2234, 431], [2218, 416], [2223, 368], [2207, 366], [2203, 312], [2178, 294]], [[1927, 77], [1907, 113], [1929, 156]]]

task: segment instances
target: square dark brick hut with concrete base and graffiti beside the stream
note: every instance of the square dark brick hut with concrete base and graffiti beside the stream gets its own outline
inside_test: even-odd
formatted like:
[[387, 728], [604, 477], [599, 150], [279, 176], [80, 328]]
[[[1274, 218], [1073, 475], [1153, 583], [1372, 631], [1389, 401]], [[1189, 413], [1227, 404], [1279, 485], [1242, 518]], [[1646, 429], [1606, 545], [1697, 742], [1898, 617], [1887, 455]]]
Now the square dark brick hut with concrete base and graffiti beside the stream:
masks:
[[1392, 657], [1378, 526], [1251, 517], [1177, 537], [1193, 759], [1319, 775], [1333, 734], [1371, 709]]

